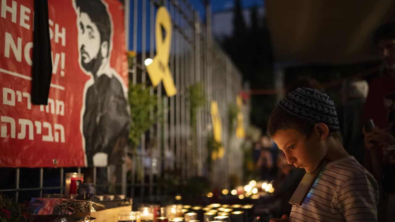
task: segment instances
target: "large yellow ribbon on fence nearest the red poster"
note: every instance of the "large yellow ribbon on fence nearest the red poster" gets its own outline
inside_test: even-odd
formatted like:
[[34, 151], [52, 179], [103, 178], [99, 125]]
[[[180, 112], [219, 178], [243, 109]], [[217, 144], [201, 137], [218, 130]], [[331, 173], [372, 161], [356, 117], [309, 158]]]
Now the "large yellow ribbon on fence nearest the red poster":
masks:
[[[171, 45], [171, 18], [165, 7], [160, 7], [156, 13], [156, 56], [152, 63], [147, 65], [147, 72], [151, 79], [152, 85], [156, 87], [160, 81], [163, 81], [167, 96], [174, 96], [177, 93], [173, 77], [169, 69], [169, 55]], [[162, 28], [166, 32], [163, 38]]]

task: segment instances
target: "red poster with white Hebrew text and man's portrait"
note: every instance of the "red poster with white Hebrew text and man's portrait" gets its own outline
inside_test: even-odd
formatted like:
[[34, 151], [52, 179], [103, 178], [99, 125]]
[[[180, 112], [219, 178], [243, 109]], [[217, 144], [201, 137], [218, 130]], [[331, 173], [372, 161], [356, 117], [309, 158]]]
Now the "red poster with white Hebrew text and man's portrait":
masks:
[[110, 163], [129, 121], [123, 6], [48, 0], [53, 74], [48, 105], [33, 105], [33, 2], [0, 5], [0, 167]]

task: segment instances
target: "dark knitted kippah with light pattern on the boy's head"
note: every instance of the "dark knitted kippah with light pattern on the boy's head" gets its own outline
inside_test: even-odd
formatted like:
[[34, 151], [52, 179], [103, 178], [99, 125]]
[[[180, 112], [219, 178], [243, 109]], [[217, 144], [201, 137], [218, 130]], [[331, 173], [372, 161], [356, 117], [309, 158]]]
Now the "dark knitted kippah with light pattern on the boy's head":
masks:
[[325, 123], [329, 129], [340, 130], [335, 103], [325, 93], [311, 88], [297, 88], [278, 105], [288, 113], [312, 124]]

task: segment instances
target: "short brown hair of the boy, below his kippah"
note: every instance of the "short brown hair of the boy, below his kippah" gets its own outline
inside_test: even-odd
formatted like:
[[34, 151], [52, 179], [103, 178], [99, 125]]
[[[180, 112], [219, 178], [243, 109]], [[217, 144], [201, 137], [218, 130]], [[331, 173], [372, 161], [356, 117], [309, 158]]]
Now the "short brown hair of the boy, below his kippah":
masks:
[[[301, 134], [310, 137], [314, 130], [315, 124], [308, 122], [306, 119], [299, 118], [285, 111], [280, 106], [276, 106], [269, 117], [267, 123], [267, 133], [273, 137], [279, 130], [296, 130]], [[340, 140], [340, 131], [329, 128], [329, 135]]]

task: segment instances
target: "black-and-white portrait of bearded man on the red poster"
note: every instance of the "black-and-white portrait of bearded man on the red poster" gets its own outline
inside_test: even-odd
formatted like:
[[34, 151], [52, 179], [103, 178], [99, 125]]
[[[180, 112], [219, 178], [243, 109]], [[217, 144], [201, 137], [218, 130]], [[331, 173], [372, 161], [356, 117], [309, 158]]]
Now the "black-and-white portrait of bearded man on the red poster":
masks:
[[88, 166], [106, 166], [123, 155], [130, 111], [127, 87], [111, 68], [113, 23], [102, 0], [73, 0], [77, 14], [79, 65], [85, 83], [81, 132]]

